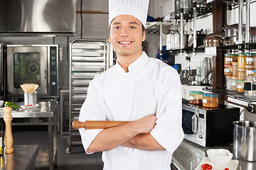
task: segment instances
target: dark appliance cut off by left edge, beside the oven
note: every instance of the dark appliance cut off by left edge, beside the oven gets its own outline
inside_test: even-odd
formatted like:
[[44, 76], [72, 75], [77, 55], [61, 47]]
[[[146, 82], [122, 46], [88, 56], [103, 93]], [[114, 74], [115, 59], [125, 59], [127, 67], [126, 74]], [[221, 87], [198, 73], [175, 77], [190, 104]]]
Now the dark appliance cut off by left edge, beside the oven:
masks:
[[0, 99], [6, 99], [6, 45], [9, 42], [0, 41]]

